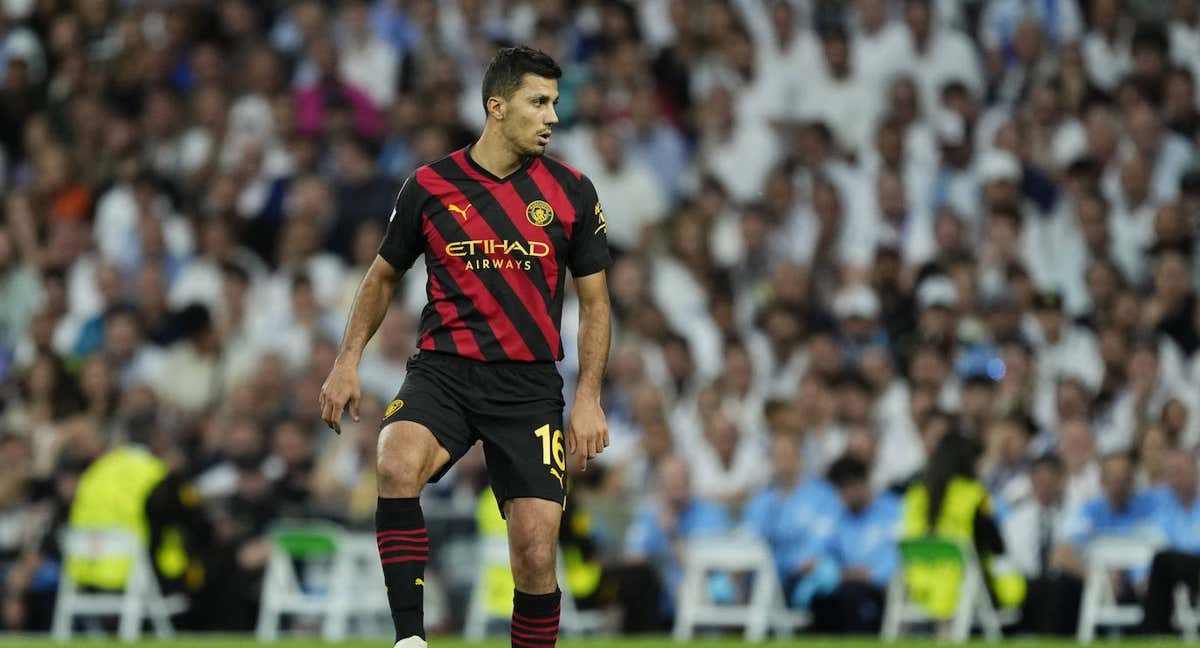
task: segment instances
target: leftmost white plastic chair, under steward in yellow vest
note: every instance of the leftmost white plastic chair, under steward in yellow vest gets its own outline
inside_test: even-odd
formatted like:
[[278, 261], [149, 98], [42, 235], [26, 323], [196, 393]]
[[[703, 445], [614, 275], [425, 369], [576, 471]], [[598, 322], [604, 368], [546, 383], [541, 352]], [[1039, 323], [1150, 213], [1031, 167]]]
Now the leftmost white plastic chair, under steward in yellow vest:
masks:
[[58, 601], [50, 634], [55, 641], [71, 641], [74, 618], [84, 614], [118, 616], [121, 641], [137, 641], [142, 623], [149, 618], [161, 640], [174, 637], [170, 616], [187, 608], [182, 595], [163, 596], [142, 540], [126, 529], [65, 529], [59, 538], [62, 562], [128, 560], [130, 572], [120, 592], [83, 592], [71, 580], [66, 566], [59, 577]]

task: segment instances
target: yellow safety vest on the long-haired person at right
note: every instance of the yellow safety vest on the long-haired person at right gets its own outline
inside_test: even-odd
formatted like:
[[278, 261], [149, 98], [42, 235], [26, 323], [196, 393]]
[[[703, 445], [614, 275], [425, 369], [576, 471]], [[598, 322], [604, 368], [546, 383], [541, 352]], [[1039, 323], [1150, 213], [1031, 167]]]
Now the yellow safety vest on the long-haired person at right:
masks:
[[[976, 480], [953, 478], [946, 488], [942, 509], [934, 529], [929, 528], [929, 492], [916, 484], [904, 496], [901, 538], [935, 535], [964, 544], [974, 542], [976, 512], [990, 512], [988, 491]], [[1001, 607], [1016, 607], [1025, 600], [1025, 577], [1012, 569], [1001, 569], [990, 556], [980, 556], [985, 575]], [[961, 564], [905, 565], [905, 581], [913, 598], [936, 618], [950, 618], [959, 600]]]

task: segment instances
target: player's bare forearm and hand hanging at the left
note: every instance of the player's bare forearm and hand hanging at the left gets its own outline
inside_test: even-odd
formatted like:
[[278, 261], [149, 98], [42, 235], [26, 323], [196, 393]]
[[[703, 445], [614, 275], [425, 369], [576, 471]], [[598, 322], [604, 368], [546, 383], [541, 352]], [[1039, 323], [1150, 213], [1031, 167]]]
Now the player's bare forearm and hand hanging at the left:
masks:
[[367, 341], [388, 314], [388, 305], [391, 304], [398, 278], [400, 272], [390, 263], [383, 257], [376, 257], [354, 295], [350, 319], [342, 335], [342, 347], [325, 384], [320, 386], [320, 419], [338, 434], [342, 433], [342, 410], [347, 404], [350, 407], [350, 418], [359, 420], [359, 400], [362, 397], [359, 360]]

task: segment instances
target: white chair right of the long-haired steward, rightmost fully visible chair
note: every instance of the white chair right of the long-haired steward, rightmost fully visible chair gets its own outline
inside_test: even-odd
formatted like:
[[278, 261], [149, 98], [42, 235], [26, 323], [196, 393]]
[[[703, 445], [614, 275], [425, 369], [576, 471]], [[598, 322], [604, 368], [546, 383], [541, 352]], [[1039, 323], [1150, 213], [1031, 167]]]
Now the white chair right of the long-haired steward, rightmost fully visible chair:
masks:
[[1088, 542], [1084, 551], [1087, 575], [1075, 632], [1080, 643], [1091, 643], [1099, 625], [1132, 626], [1141, 623], [1140, 605], [1117, 604], [1109, 574], [1150, 565], [1159, 546], [1156, 539], [1132, 535], [1100, 536]]

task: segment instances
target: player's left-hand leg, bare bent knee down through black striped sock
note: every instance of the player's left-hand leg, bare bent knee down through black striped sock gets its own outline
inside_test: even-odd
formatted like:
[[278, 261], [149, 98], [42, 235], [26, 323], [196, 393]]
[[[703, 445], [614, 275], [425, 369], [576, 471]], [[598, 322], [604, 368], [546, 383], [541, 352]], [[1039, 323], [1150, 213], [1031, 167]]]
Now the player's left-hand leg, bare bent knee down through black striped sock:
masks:
[[428, 427], [400, 420], [379, 433], [376, 470], [379, 499], [376, 539], [396, 646], [425, 646], [425, 564], [430, 538], [419, 496], [425, 484], [450, 462], [450, 454]]

